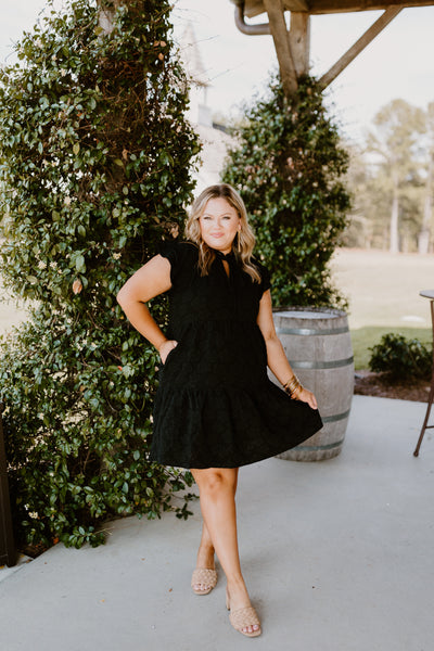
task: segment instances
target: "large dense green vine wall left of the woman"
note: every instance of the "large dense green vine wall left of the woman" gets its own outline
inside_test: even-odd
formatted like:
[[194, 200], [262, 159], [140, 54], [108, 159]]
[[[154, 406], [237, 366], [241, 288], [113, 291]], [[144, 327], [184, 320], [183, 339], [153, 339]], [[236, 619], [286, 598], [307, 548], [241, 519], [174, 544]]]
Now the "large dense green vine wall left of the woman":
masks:
[[[155, 352], [115, 301], [183, 222], [193, 189], [199, 145], [169, 11], [166, 0], [131, 0], [107, 34], [97, 2], [68, 0], [0, 72], [0, 271], [37, 304], [0, 358], [26, 542], [97, 545], [107, 516], [188, 514], [189, 494], [171, 498], [190, 473], [148, 460]], [[163, 299], [153, 312], [164, 324]]]

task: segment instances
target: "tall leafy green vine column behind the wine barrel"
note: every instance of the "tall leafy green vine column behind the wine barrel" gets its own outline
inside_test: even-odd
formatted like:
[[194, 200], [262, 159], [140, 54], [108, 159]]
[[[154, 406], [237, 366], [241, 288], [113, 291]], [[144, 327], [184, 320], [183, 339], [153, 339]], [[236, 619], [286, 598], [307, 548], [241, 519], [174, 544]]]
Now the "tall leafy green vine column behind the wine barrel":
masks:
[[311, 78], [285, 99], [279, 79], [246, 110], [224, 180], [238, 188], [256, 231], [256, 251], [272, 271], [276, 305], [345, 302], [328, 263], [346, 225], [348, 165], [336, 127]]

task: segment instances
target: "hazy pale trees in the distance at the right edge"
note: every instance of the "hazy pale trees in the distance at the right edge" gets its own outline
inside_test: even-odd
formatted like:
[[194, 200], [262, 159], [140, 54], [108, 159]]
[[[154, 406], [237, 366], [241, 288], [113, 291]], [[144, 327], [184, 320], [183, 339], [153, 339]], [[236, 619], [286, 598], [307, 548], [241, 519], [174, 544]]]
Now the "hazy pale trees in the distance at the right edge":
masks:
[[433, 253], [434, 102], [424, 111], [393, 100], [348, 150], [353, 207], [344, 244]]

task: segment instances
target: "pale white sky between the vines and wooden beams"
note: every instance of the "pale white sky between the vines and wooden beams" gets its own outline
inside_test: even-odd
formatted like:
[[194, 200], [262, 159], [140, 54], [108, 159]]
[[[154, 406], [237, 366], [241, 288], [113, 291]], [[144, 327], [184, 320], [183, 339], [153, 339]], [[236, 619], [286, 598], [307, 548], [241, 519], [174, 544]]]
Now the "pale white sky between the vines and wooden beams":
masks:
[[[31, 28], [46, 4], [46, 0], [0, 0], [0, 63], [12, 60], [12, 43], [23, 29]], [[261, 93], [270, 71], [277, 68], [272, 38], [241, 34], [233, 12], [230, 0], [174, 0], [175, 36], [179, 38], [188, 23], [193, 25], [210, 82], [208, 104], [228, 116]], [[312, 16], [311, 73], [326, 73], [381, 13]], [[266, 16], [255, 22], [266, 22]], [[375, 113], [396, 98], [422, 108], [434, 101], [433, 31], [434, 0], [433, 7], [404, 9], [333, 81], [327, 103], [346, 137], [361, 140]]]

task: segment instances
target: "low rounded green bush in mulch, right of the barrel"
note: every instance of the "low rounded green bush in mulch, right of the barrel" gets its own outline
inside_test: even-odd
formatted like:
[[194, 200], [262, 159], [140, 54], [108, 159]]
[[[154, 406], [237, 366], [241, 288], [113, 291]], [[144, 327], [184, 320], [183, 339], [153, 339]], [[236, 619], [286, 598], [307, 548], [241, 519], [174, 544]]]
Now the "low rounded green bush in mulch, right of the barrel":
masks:
[[429, 380], [433, 363], [433, 353], [419, 340], [407, 340], [401, 334], [384, 334], [372, 348], [369, 368], [386, 373], [393, 381], [410, 382]]

